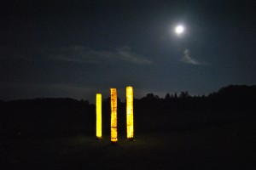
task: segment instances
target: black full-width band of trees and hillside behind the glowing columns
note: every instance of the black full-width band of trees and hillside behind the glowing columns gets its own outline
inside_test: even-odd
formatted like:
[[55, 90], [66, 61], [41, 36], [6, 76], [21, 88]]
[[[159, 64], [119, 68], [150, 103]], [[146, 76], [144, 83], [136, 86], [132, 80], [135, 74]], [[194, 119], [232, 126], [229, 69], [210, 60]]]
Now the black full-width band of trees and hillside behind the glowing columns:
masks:
[[[103, 134], [110, 133], [110, 99], [102, 102]], [[255, 119], [256, 86], [229, 86], [207, 96], [147, 94], [134, 99], [135, 132], [163, 132]], [[95, 134], [96, 105], [76, 99], [0, 101], [1, 137]], [[119, 133], [125, 133], [125, 102], [118, 100]]]

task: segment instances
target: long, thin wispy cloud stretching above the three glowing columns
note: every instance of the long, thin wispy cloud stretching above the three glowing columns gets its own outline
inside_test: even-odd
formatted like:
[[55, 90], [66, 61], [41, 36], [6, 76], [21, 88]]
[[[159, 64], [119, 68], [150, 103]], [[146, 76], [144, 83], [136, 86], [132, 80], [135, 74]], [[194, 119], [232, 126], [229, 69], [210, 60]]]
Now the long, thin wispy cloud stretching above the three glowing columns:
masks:
[[137, 54], [129, 47], [113, 48], [113, 50], [94, 50], [83, 46], [72, 46], [67, 48], [55, 48], [50, 54], [53, 59], [60, 59], [76, 63], [102, 63], [102, 61], [122, 60], [137, 65], [152, 64], [153, 61]]

